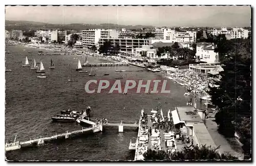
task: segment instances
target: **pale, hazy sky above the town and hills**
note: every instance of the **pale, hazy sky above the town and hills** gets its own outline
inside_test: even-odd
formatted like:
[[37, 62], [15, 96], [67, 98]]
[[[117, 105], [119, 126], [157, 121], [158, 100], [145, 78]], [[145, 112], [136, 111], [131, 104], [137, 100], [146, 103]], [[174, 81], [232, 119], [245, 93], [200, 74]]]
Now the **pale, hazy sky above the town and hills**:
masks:
[[250, 6], [6, 6], [6, 20], [155, 27], [250, 27]]

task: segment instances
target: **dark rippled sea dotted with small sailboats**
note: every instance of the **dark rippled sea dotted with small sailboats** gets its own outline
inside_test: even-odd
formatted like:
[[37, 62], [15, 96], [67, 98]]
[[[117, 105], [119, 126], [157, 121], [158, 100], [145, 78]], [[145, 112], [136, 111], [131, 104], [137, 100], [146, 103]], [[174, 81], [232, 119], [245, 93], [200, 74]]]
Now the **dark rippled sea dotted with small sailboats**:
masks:
[[[192, 96], [184, 96], [185, 87], [168, 80], [163, 73], [152, 72], [115, 72], [119, 70], [140, 70], [136, 66], [93, 67], [95, 77], [89, 76], [92, 67], [83, 67], [88, 73], [79, 73], [76, 69], [77, 55], [38, 55], [38, 51], [53, 53], [44, 49], [28, 48], [23, 45], [6, 45], [6, 139], [26, 141], [40, 136], [53, 136], [56, 133], [80, 130], [77, 123], [53, 123], [51, 117], [61, 110], [81, 111], [91, 106], [91, 118], [107, 118], [108, 121], [138, 122], [141, 109], [146, 113], [161, 106], [163, 113], [177, 106], [186, 106]], [[23, 67], [26, 56], [32, 63], [42, 61], [50, 75], [39, 79], [36, 70]], [[51, 58], [56, 68], [50, 69]], [[89, 57], [90, 63], [109, 62]], [[71, 66], [69, 65], [71, 64]], [[39, 64], [38, 64], [39, 65]], [[109, 76], [104, 76], [108, 72]], [[87, 93], [84, 86], [91, 79], [112, 80], [123, 77], [126, 80], [167, 80], [170, 93]], [[70, 82], [75, 79], [77, 82]], [[203, 104], [200, 105], [203, 107]], [[103, 126], [102, 132], [84, 133], [65, 140], [53, 141], [42, 146], [30, 147], [6, 152], [7, 160], [133, 160], [135, 151], [129, 150], [131, 139], [137, 136], [137, 129], [124, 127], [119, 133], [118, 127]]]

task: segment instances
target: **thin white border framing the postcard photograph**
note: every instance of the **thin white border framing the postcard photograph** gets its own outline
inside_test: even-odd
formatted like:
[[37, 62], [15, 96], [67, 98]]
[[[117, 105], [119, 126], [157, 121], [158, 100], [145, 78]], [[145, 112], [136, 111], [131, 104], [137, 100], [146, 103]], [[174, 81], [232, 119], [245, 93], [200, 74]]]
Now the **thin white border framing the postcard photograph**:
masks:
[[[255, 4], [255, 1], [248, 1], [248, 0], [243, 0], [243, 1], [229, 1], [229, 2], [226, 2], [226, 1], [220, 1], [220, 0], [215, 0], [215, 1], [163, 1], [163, 0], [158, 0], [158, 1], [145, 1], [145, 2], [139, 2], [139, 1], [135, 1], [135, 0], [130, 0], [130, 1], [126, 1], [126, 2], [123, 2], [123, 1], [98, 1], [98, 0], [94, 0], [94, 1], [50, 1], [50, 0], [44, 0], [44, 1], [5, 1], [5, 4], [3, 3], [4, 1], [1, 1], [1, 11], [2, 13], [4, 13], [4, 10], [5, 10], [5, 6], [4, 5], [16, 5], [16, 4], [22, 4], [22, 5], [59, 5], [59, 4], [65, 4], [65, 5], [89, 5], [89, 3], [91, 3], [91, 5], [109, 5], [109, 4], [113, 4], [113, 5], [141, 5], [141, 4], [144, 4], [144, 5], [162, 5], [162, 4], [165, 4], [165, 5], [233, 5], [233, 4], [238, 4], [238, 5], [252, 5], [252, 7], [254, 6]], [[243, 4], [241, 4], [243, 3]], [[254, 6], [255, 7], [255, 6]], [[2, 157], [2, 160], [1, 162], [4, 162], [3, 164], [4, 165], [7, 165], [7, 164], [14, 164], [14, 163], [7, 163], [5, 161], [5, 151], [4, 151], [4, 139], [5, 139], [5, 136], [4, 136], [4, 132], [5, 132], [5, 35], [4, 35], [4, 30], [5, 30], [5, 15], [4, 14], [1, 14], [1, 23], [2, 23], [2, 26], [1, 26], [1, 29], [2, 29], [2, 33], [0, 33], [0, 37], [1, 37], [1, 53], [2, 53], [2, 56], [0, 57], [1, 60], [0, 60], [0, 74], [1, 74], [1, 112], [2, 112], [2, 115], [0, 116], [2, 118], [2, 121], [0, 121], [2, 123], [2, 127], [1, 127], [1, 133], [3, 134], [3, 136], [1, 137], [1, 140], [0, 140], [0, 143], [1, 144], [1, 147], [3, 148], [0, 148], [1, 149], [1, 157]], [[253, 28], [254, 30], [254, 28]], [[254, 32], [254, 31], [253, 31]], [[254, 34], [254, 33], [253, 33]], [[253, 42], [253, 48], [255, 48], [255, 42]], [[253, 62], [255, 61], [255, 57], [253, 58]], [[254, 73], [255, 71], [253, 71]], [[254, 100], [252, 103], [256, 103]], [[256, 113], [254, 113], [256, 114]], [[254, 123], [255, 124], [255, 123]], [[253, 129], [255, 129], [255, 126], [253, 126]], [[253, 144], [255, 145], [255, 144]], [[254, 149], [255, 150], [255, 149]], [[255, 152], [254, 152], [255, 154]], [[1, 164], [1, 165], [3, 165]], [[23, 165], [26, 165], [28, 164], [27, 162], [23, 162], [23, 163], [19, 163], [19, 164], [23, 164]], [[30, 163], [31, 164], [31, 163]], [[32, 163], [32, 164], [42, 164], [42, 165], [45, 165], [46, 163]], [[63, 163], [55, 163], [55, 162], [51, 162], [51, 163], [47, 163], [47, 164], [50, 164], [50, 165], [55, 165], [55, 164], [63, 164]], [[68, 165], [71, 165], [73, 163], [65, 163], [65, 164], [68, 164]], [[77, 164], [77, 163], [76, 163]], [[95, 164], [95, 163], [79, 163], [78, 164]], [[102, 163], [101, 163], [102, 164]], [[113, 163], [108, 163], [108, 164], [113, 164]], [[117, 164], [124, 164], [124, 163], [117, 163]], [[125, 164], [135, 164], [133, 162], [131, 163], [125, 163]], [[148, 164], [148, 163], [138, 163], [138, 164]], [[156, 164], [156, 163], [151, 163], [151, 164]], [[178, 165], [178, 163], [160, 163], [160, 164], [172, 164], [172, 165]], [[180, 165], [181, 163], [179, 163]], [[182, 163], [182, 164], [198, 164], [198, 163]], [[206, 164], [206, 163], [203, 163], [203, 164]], [[224, 164], [224, 163], [218, 163], [218, 164]], [[225, 163], [226, 164], [226, 163]]]

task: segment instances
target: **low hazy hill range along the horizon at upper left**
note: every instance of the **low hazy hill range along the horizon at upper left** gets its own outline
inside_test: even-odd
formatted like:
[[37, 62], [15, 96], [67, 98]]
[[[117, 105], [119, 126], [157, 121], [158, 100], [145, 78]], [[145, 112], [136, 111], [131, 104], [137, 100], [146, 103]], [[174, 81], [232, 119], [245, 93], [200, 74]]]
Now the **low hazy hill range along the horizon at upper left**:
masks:
[[45, 23], [45, 22], [34, 22], [34, 21], [13, 21], [6, 20], [5, 21], [6, 30], [74, 30], [81, 31], [87, 29], [136, 29], [139, 30], [141, 28], [153, 28], [153, 26], [124, 26], [124, 25], [116, 25], [113, 23], [101, 23], [99, 25], [93, 24], [83, 24], [83, 23], [71, 23], [71, 24], [53, 24], [53, 23]]

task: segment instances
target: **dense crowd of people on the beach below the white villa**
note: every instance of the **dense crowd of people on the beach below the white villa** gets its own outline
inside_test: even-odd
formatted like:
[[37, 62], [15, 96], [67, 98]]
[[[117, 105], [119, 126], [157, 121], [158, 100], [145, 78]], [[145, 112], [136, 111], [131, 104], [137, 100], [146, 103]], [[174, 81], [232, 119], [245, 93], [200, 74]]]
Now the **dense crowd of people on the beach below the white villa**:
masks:
[[183, 82], [189, 84], [190, 86], [194, 87], [197, 90], [197, 93], [205, 93], [208, 91], [208, 85], [214, 85], [214, 81], [219, 81], [220, 76], [215, 78], [209, 77], [207, 74], [204, 73], [197, 73], [193, 70], [189, 69], [182, 69], [182, 70], [175, 70], [172, 72], [167, 72], [168, 75], [172, 76], [174, 79], [180, 79]]

